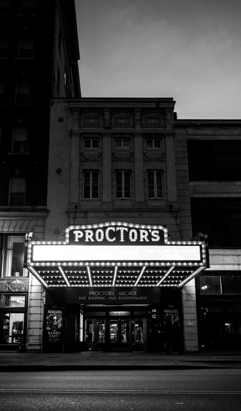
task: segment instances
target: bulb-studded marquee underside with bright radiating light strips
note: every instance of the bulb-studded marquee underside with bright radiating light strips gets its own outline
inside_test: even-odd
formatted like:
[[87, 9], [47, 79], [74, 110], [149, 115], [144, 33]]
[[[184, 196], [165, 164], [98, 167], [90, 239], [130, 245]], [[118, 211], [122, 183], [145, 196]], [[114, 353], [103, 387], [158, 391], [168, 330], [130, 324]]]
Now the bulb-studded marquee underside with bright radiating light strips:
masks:
[[[156, 267], [39, 267], [28, 266], [28, 270], [45, 287], [181, 287], [205, 270], [205, 266], [178, 267], [171, 265], [162, 270]], [[139, 280], [138, 280], [139, 279]]]

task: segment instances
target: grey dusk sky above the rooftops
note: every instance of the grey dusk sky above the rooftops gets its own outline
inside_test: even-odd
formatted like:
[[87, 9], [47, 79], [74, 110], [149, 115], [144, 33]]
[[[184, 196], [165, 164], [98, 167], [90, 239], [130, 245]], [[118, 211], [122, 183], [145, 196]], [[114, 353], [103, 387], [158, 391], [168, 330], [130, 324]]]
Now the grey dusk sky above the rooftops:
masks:
[[75, 0], [83, 97], [173, 97], [241, 118], [241, 0]]

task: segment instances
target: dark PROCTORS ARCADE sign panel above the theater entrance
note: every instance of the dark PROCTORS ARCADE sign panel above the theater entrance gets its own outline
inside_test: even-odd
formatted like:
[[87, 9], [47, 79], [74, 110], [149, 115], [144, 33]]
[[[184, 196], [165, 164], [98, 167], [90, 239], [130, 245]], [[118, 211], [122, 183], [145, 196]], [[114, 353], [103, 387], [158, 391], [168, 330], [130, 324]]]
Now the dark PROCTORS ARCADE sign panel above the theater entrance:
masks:
[[66, 289], [67, 304], [159, 304], [160, 289], [145, 287], [78, 287]]

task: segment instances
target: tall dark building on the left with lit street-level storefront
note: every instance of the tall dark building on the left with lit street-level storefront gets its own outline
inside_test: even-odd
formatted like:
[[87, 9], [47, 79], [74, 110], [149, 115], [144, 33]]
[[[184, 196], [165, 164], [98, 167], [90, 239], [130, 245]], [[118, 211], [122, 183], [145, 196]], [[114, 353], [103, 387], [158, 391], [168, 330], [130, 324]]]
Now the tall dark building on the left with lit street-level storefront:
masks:
[[78, 60], [74, 1], [1, 2], [0, 349], [39, 345], [41, 286], [23, 268], [25, 235], [45, 236], [51, 98], [81, 97]]

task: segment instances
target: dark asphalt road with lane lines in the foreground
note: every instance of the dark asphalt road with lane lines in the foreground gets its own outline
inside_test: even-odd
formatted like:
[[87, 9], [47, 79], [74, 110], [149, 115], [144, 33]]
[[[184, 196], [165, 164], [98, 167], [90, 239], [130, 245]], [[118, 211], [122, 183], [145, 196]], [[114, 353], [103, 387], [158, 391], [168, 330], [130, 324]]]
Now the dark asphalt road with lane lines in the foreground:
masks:
[[241, 369], [0, 373], [4, 411], [241, 409]]

